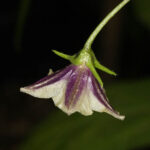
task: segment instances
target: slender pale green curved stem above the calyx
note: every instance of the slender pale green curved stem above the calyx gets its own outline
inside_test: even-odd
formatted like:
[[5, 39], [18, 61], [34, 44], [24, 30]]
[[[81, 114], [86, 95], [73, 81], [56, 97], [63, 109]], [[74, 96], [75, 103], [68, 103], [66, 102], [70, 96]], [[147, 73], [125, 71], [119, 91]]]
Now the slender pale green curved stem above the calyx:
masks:
[[90, 50], [91, 45], [94, 42], [98, 33], [102, 30], [102, 28], [107, 24], [107, 22], [117, 14], [117, 12], [123, 8], [130, 0], [123, 0], [120, 4], [118, 4], [95, 28], [95, 30], [91, 33], [87, 41], [85, 42], [84, 49]]

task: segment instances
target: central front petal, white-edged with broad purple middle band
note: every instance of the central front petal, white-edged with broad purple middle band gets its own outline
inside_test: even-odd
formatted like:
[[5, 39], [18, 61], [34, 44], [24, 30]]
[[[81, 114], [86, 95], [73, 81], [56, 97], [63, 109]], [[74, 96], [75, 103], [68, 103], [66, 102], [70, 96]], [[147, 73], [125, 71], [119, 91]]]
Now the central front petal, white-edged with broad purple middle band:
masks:
[[77, 67], [70, 75], [66, 86], [57, 96], [53, 97], [54, 103], [68, 115], [80, 112], [83, 115], [91, 115], [90, 100], [87, 94], [88, 68]]

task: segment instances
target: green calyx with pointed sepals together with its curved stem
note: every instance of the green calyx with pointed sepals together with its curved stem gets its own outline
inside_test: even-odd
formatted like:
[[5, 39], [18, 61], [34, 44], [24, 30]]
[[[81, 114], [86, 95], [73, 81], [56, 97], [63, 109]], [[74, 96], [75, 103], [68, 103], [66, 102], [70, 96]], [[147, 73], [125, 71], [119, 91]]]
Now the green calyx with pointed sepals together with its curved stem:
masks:
[[103, 87], [103, 82], [99, 76], [99, 74], [96, 71], [96, 68], [104, 71], [110, 75], [114, 75], [116, 76], [117, 74], [108, 69], [107, 67], [103, 66], [96, 58], [91, 46], [96, 38], [96, 36], [98, 35], [98, 33], [102, 30], [102, 28], [107, 24], [107, 22], [121, 9], [123, 8], [130, 0], [123, 0], [120, 4], [118, 4], [101, 22], [100, 24], [95, 28], [95, 30], [91, 33], [91, 35], [89, 36], [89, 38], [87, 39], [87, 41], [84, 44], [84, 47], [82, 50], [80, 50], [80, 52], [78, 54], [75, 55], [67, 55], [64, 54], [62, 52], [53, 50], [53, 52], [64, 58], [69, 60], [72, 64], [74, 65], [83, 65], [85, 64], [93, 73], [94, 77], [98, 80], [98, 82], [100, 83], [101, 87]]

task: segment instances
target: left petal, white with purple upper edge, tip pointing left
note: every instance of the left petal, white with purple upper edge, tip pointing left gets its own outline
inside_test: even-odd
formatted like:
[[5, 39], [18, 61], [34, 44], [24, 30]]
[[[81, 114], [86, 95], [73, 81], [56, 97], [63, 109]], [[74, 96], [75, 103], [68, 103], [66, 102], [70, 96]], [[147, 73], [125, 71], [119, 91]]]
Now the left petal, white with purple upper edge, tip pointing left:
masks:
[[38, 98], [51, 98], [62, 90], [69, 75], [75, 67], [70, 65], [65, 69], [50, 74], [34, 84], [21, 88], [20, 91]]

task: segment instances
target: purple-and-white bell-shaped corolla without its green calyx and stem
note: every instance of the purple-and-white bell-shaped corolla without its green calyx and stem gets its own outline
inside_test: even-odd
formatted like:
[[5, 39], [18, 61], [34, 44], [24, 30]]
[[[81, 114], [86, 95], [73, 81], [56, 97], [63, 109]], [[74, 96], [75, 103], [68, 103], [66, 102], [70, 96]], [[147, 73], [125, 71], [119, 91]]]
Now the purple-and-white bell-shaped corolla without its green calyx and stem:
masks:
[[109, 105], [104, 89], [86, 65], [71, 64], [20, 90], [34, 97], [52, 98], [68, 115], [80, 112], [88, 116], [97, 111], [124, 119]]

